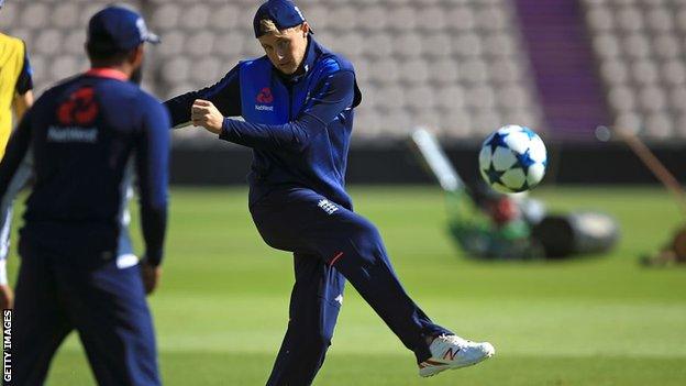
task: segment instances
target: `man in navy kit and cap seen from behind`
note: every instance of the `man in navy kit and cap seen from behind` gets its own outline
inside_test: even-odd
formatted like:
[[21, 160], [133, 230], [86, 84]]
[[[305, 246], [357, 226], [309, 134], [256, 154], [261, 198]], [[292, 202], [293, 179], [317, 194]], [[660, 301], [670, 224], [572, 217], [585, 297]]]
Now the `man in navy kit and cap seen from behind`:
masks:
[[[45, 91], [0, 164], [4, 195], [32, 148], [35, 186], [19, 242], [13, 385], [42, 385], [74, 329], [100, 385], [161, 384], [145, 293], [161, 275], [169, 119], [130, 81], [140, 74], [144, 42], [158, 40], [137, 13], [109, 7], [93, 15], [86, 46], [91, 69]], [[129, 165], [141, 195], [142, 265], [118, 251]]]

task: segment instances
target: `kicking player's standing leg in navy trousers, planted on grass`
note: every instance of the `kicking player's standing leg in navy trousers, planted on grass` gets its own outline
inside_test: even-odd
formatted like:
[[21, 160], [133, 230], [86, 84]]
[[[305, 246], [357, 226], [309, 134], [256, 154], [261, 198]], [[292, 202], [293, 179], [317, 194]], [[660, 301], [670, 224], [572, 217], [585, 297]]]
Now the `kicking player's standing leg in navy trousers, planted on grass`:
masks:
[[345, 278], [317, 255], [294, 254], [296, 284], [286, 337], [267, 386], [310, 385], [324, 363]]

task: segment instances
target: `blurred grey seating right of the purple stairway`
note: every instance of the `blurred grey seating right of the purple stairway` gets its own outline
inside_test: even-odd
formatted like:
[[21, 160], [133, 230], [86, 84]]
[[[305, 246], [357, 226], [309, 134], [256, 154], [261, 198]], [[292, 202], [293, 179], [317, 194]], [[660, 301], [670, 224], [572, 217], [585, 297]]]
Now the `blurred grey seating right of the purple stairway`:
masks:
[[686, 137], [686, 2], [584, 0], [613, 124]]

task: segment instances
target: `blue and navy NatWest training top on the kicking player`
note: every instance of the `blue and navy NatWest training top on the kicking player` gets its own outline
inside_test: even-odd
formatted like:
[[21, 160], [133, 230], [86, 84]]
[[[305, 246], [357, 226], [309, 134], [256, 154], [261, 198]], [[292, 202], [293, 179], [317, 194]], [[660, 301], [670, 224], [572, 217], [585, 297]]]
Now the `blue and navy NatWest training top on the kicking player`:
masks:
[[211, 101], [224, 117], [245, 119], [225, 118], [219, 137], [253, 148], [251, 202], [295, 186], [350, 208], [347, 151], [353, 108], [362, 100], [353, 66], [310, 36], [301, 69], [286, 76], [266, 56], [241, 62], [215, 85], [165, 104], [173, 125], [190, 121], [196, 99]]

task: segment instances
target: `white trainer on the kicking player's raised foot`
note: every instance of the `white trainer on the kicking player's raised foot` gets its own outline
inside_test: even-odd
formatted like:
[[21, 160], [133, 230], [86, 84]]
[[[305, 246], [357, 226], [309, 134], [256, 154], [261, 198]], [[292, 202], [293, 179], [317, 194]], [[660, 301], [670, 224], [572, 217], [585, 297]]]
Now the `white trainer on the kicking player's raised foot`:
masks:
[[488, 342], [472, 342], [457, 335], [436, 337], [431, 345], [431, 357], [419, 364], [419, 375], [427, 377], [445, 370], [475, 365], [496, 353]]

